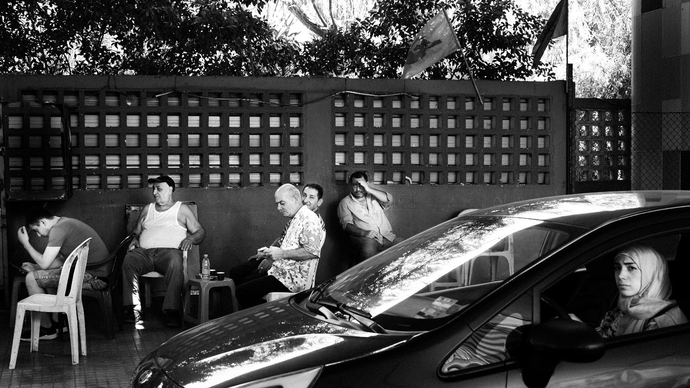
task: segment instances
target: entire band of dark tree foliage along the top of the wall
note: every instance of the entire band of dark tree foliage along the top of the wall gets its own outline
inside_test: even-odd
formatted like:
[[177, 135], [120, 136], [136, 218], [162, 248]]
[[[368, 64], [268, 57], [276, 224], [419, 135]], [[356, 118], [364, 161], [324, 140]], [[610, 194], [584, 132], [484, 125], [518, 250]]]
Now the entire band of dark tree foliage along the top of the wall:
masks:
[[[531, 68], [543, 18], [513, 0], [376, 1], [344, 27], [332, 17], [339, 11], [314, 5], [324, 33], [306, 43], [258, 16], [267, 1], [12, 1], [0, 6], [0, 72], [399, 78], [415, 34], [455, 7], [449, 16], [476, 78], [553, 76], [549, 64]], [[466, 75], [455, 52], [420, 77]]]

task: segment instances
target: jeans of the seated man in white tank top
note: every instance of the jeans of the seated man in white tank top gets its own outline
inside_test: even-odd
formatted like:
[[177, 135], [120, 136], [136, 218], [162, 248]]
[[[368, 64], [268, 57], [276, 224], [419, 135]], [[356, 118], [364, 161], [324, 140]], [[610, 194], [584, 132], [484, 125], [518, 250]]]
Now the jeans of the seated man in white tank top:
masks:
[[182, 251], [175, 248], [135, 248], [128, 252], [122, 263], [122, 304], [134, 305], [141, 311], [139, 277], [151, 271], [166, 277], [164, 310], [179, 310], [182, 305], [184, 273]]

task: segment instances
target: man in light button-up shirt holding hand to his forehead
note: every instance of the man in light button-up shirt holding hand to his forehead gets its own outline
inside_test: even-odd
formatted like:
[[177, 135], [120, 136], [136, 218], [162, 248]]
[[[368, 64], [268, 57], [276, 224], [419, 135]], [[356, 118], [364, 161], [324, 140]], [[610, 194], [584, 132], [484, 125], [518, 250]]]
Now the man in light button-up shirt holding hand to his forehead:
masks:
[[350, 243], [357, 254], [357, 263], [403, 241], [393, 234], [384, 210], [393, 196], [371, 187], [366, 173], [353, 172], [350, 176], [352, 192], [338, 205], [338, 219], [343, 230], [350, 235]]

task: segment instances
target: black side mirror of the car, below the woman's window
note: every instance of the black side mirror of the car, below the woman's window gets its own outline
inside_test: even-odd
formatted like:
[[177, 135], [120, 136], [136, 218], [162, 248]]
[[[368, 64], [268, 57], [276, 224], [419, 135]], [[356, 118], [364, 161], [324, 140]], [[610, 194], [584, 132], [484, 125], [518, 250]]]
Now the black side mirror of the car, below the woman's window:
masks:
[[604, 340], [585, 323], [567, 318], [533, 327], [525, 352], [522, 381], [529, 388], [544, 388], [560, 361], [592, 363], [604, 355]]

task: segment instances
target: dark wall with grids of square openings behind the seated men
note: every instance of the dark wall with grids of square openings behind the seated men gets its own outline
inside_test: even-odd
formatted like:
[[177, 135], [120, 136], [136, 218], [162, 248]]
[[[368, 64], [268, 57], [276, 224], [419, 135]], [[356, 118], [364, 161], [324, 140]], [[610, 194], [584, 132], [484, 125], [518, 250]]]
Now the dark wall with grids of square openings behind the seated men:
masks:
[[[227, 269], [282, 230], [277, 185], [319, 183], [325, 280], [348, 263], [336, 210], [354, 171], [393, 195], [387, 214], [403, 237], [468, 208], [565, 194], [564, 82], [478, 86], [483, 101], [469, 81], [0, 76], [6, 194], [33, 200], [7, 203], [6, 230], [41, 195], [72, 189], [50, 210], [115, 245], [125, 205], [150, 202], [144, 180], [168, 174], [175, 198], [197, 203], [201, 252]], [[60, 161], [63, 133], [71, 154]]]

